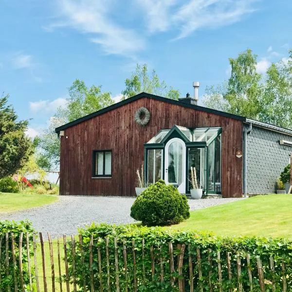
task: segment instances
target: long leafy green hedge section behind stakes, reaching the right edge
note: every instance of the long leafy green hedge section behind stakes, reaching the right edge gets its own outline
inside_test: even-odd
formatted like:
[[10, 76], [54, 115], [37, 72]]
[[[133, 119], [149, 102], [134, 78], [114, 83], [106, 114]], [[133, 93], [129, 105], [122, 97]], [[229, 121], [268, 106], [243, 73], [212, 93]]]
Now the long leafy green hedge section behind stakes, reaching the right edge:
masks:
[[[86, 286], [87, 291], [91, 291], [92, 275], [96, 291], [100, 291], [100, 287], [103, 288], [103, 291], [108, 291], [109, 286], [110, 291], [116, 291], [116, 269], [119, 274], [120, 291], [126, 291], [126, 287], [128, 287], [129, 292], [135, 291], [135, 283], [139, 292], [178, 291], [178, 255], [181, 253], [182, 244], [185, 244], [185, 250], [180, 278], [184, 281], [186, 292], [190, 291], [190, 257], [193, 267], [194, 291], [201, 291], [201, 287], [203, 291], [210, 291], [210, 283], [213, 291], [219, 291], [218, 262], [220, 262], [222, 269], [222, 291], [237, 290], [238, 281], [242, 284], [243, 291], [250, 291], [247, 254], [250, 255], [249, 267], [251, 268], [254, 292], [260, 291], [256, 256], [260, 256], [262, 260], [266, 292], [273, 291], [273, 282], [275, 283], [275, 291], [282, 291], [283, 277], [287, 281], [287, 291], [292, 291], [292, 241], [287, 239], [216, 237], [201, 232], [178, 232], [163, 227], [106, 224], [92, 224], [84, 229], [79, 229], [79, 235], [82, 238], [82, 245], [80, 242], [76, 242], [74, 256], [72, 256], [71, 247], [68, 246], [68, 263], [70, 280], [73, 281], [73, 276], [75, 276], [77, 285], [81, 287], [80, 292], [83, 291], [83, 285]], [[92, 253], [90, 252], [91, 236], [93, 237]], [[169, 265], [169, 242], [173, 244], [174, 273], [171, 273]], [[201, 277], [199, 277], [197, 248], [199, 248], [201, 256]], [[218, 251], [221, 257], [220, 261], [218, 260]], [[230, 253], [230, 279], [226, 253]], [[90, 269], [91, 255], [92, 274]], [[241, 265], [239, 277], [237, 274], [237, 255], [240, 257]], [[274, 273], [270, 268], [271, 256], [274, 260]], [[151, 258], [154, 261], [154, 271], [152, 271]], [[173, 286], [171, 286], [172, 277], [175, 277]]]

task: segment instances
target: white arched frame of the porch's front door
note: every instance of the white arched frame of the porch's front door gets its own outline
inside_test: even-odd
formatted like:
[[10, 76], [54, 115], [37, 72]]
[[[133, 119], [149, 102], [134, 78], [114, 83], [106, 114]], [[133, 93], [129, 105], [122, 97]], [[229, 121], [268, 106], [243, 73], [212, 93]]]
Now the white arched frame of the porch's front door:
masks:
[[166, 184], [170, 184], [168, 183], [168, 171], [167, 171], [167, 168], [168, 168], [168, 148], [170, 146], [171, 143], [173, 142], [179, 142], [181, 145], [182, 145], [182, 148], [183, 148], [183, 153], [182, 153], [182, 157], [183, 157], [183, 179], [182, 179], [182, 183], [178, 186], [178, 191], [181, 193], [181, 194], [185, 194], [185, 183], [186, 183], [186, 148], [185, 148], [185, 143], [183, 142], [182, 139], [180, 138], [173, 138], [173, 139], [170, 139], [165, 147], [164, 147], [164, 181]]

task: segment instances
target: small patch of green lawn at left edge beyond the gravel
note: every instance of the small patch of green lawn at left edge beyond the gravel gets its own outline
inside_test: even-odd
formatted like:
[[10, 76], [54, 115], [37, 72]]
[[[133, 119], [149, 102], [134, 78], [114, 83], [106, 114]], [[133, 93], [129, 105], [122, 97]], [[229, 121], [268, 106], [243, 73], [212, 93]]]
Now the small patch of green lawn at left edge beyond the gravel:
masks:
[[55, 195], [0, 193], [0, 213], [39, 207], [57, 200]]

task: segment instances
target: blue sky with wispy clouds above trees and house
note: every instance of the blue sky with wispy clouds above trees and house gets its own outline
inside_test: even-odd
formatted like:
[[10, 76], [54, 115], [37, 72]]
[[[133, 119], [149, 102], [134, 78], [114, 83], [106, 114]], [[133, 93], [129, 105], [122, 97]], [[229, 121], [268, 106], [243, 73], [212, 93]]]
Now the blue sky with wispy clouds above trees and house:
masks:
[[0, 92], [10, 94], [29, 135], [48, 125], [79, 78], [112, 97], [136, 63], [200, 95], [228, 77], [246, 48], [258, 72], [292, 47], [290, 0], [0, 0]]

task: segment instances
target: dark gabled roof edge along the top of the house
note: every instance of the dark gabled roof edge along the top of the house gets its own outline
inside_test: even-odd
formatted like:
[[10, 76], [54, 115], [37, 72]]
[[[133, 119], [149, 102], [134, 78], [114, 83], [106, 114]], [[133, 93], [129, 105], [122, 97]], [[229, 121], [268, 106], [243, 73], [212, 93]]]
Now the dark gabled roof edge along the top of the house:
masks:
[[205, 107], [189, 104], [189, 103], [186, 103], [186, 102], [183, 102], [183, 101], [178, 101], [178, 100], [165, 98], [165, 97], [162, 97], [162, 96], [158, 96], [158, 95], [154, 95], [154, 94], [150, 94], [150, 93], [146, 93], [146, 92], [141, 92], [141, 93], [139, 93], [137, 95], [134, 95], [134, 96], [132, 96], [130, 98], [127, 98], [127, 99], [122, 100], [122, 101], [120, 101], [118, 103], [115, 103], [115, 104], [113, 104], [113, 105], [111, 105], [111, 106], [109, 106], [107, 108], [92, 112], [91, 114], [86, 115], [86, 116], [84, 116], [82, 118], [79, 118], [79, 119], [77, 119], [77, 120], [75, 120], [73, 122], [70, 122], [70, 123], [65, 124], [63, 126], [55, 128], [55, 132], [59, 133], [60, 131], [66, 129], [66, 128], [70, 128], [70, 127], [72, 127], [74, 125], [77, 125], [77, 124], [82, 123], [84, 121], [90, 120], [93, 117], [96, 117], [98, 115], [106, 113], [106, 112], [108, 112], [110, 110], [117, 109], [117, 108], [119, 108], [121, 106], [127, 105], [128, 103], [131, 103], [131, 102], [133, 102], [133, 101], [135, 101], [137, 99], [143, 98], [143, 97], [150, 98], [150, 99], [155, 99], [155, 100], [159, 100], [159, 101], [163, 101], [163, 102], [167, 102], [167, 103], [170, 103], [170, 104], [173, 104], [173, 105], [178, 105], [178, 106], [181, 106], [181, 107], [184, 107], [184, 108], [190, 108], [190, 109], [194, 109], [194, 110], [200, 110], [200, 111], [204, 111], [204, 112], [208, 112], [208, 113], [213, 113], [213, 114], [216, 114], [216, 115], [219, 115], [219, 116], [223, 116], [223, 117], [239, 120], [239, 121], [242, 121], [244, 123], [253, 123], [253, 124], [255, 124], [255, 126], [258, 126], [258, 127], [261, 127], [261, 128], [267, 128], [267, 129], [274, 130], [274, 131], [277, 131], [277, 132], [281, 132], [281, 133], [284, 133], [284, 134], [292, 135], [292, 130], [290, 130], [290, 129], [281, 128], [281, 127], [274, 126], [274, 125], [271, 125], [271, 124], [259, 122], [259, 121], [252, 120], [252, 119], [248, 119], [246, 117], [242, 117], [242, 116], [239, 116], [239, 115], [236, 115], [236, 114], [232, 114], [232, 113], [228, 113], [228, 112], [224, 112], [224, 111], [220, 111], [220, 110], [213, 110], [213, 109], [209, 109], [209, 108], [205, 108]]

